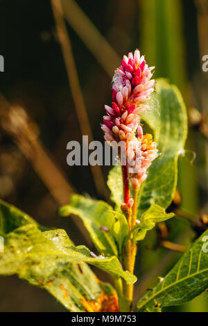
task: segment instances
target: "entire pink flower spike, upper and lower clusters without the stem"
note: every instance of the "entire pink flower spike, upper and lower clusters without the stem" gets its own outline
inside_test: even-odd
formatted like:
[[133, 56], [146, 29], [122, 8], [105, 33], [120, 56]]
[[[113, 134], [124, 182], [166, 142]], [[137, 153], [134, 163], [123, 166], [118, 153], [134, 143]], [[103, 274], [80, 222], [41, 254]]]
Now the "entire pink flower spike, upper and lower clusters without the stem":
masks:
[[125, 141], [129, 168], [134, 165], [129, 175], [135, 187], [146, 179], [146, 171], [158, 155], [151, 135], [144, 136], [139, 125], [139, 113], [154, 91], [155, 80], [151, 80], [154, 68], [148, 67], [139, 50], [123, 56], [112, 79], [112, 106], [105, 105], [107, 115], [101, 126], [110, 144]]

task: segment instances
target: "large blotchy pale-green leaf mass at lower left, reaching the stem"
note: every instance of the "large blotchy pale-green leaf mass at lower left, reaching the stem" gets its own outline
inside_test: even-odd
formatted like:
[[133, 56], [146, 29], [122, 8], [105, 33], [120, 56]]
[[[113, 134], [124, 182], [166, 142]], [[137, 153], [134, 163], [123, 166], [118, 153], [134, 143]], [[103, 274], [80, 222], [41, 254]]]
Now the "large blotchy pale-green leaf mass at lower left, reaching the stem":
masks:
[[5, 242], [5, 252], [0, 254], [0, 275], [17, 274], [45, 288], [70, 311], [86, 311], [83, 302], [96, 300], [103, 291], [83, 261], [128, 282], [136, 281], [133, 275], [121, 270], [116, 257], [94, 259], [86, 247], [74, 247], [64, 230], [42, 232], [32, 218], [3, 201], [0, 216]]

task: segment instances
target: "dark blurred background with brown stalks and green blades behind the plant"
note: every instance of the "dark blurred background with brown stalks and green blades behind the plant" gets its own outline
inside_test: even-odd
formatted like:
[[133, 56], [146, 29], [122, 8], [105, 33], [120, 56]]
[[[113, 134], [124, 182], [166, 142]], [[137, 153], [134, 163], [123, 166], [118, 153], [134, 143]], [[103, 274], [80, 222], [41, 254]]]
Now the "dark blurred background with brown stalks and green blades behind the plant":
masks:
[[[208, 72], [202, 72], [208, 1], [61, 2], [60, 12], [59, 0], [0, 0], [0, 197], [42, 225], [66, 229], [76, 245], [92, 247], [82, 223], [60, 218], [58, 208], [73, 192], [109, 201], [103, 181], [110, 167], [69, 167], [67, 142], [81, 141], [82, 134], [103, 140], [112, 75], [123, 54], [139, 48], [156, 66], [156, 77], [180, 88], [189, 138], [170, 208], [176, 218], [150, 232], [139, 248], [138, 299], [208, 225]], [[175, 243], [182, 248], [175, 250]], [[102, 272], [99, 277], [106, 279]], [[207, 297], [172, 310], [208, 311]], [[64, 311], [17, 277], [0, 278], [0, 298], [0, 311]]]

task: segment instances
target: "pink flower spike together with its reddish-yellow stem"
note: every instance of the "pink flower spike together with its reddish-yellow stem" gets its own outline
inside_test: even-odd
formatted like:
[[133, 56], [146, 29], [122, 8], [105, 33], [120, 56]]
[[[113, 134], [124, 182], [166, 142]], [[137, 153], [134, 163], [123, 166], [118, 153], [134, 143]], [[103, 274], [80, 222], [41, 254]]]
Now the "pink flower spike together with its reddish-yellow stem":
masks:
[[[129, 234], [123, 245], [122, 264], [125, 270], [131, 273], [134, 272], [137, 253], [137, 246], [132, 240], [131, 231], [137, 219], [138, 188], [139, 184], [142, 184], [146, 179], [146, 170], [153, 159], [157, 157], [158, 152], [152, 136], [149, 134], [144, 136], [142, 127], [139, 125], [139, 113], [143, 108], [143, 105], [140, 104], [150, 100], [150, 95], [154, 91], [155, 80], [151, 80], [153, 70], [154, 67], [148, 67], [144, 56], [140, 55], [138, 49], [134, 54], [130, 52], [128, 56], [123, 56], [121, 66], [116, 70], [112, 80], [112, 106], [105, 105], [106, 115], [103, 117], [101, 126], [105, 133], [104, 138], [110, 145], [113, 146], [114, 141], [117, 143], [120, 140], [124, 141], [128, 158], [137, 161], [137, 157], [141, 156], [142, 170], [139, 171], [139, 167], [136, 165], [136, 170], [130, 174], [133, 180], [131, 180], [132, 185], [135, 184], [133, 185], [135, 188], [133, 198], [130, 198], [129, 160], [126, 159], [125, 165], [121, 165], [123, 175], [121, 210], [129, 227]], [[134, 148], [131, 148], [131, 144], [134, 145]], [[119, 158], [124, 158], [121, 149]], [[144, 164], [142, 165], [143, 161]], [[116, 286], [118, 288], [119, 284]], [[118, 291], [121, 292], [119, 288]], [[133, 300], [133, 285], [123, 281], [122, 293], [129, 304], [129, 307], [125, 309], [130, 311]]]

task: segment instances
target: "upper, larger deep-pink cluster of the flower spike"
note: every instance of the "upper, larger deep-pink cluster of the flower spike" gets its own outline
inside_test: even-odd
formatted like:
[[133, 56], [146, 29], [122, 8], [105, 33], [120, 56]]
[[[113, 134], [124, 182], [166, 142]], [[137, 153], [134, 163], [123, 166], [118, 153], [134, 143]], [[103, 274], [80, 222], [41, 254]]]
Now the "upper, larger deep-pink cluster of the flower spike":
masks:
[[116, 70], [112, 85], [112, 107], [105, 105], [107, 115], [103, 117], [102, 129], [105, 140], [126, 140], [129, 133], [135, 133], [139, 123], [141, 104], [150, 99], [154, 91], [154, 67], [148, 67], [139, 50], [123, 56], [121, 66]]

